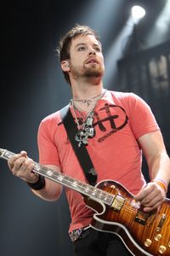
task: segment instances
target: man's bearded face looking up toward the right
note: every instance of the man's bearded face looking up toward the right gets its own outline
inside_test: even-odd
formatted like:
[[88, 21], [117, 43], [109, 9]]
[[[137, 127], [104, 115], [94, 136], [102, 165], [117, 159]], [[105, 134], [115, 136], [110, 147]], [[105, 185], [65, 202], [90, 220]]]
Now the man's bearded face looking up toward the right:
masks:
[[72, 39], [70, 72], [75, 78], [102, 77], [105, 71], [104, 57], [98, 40], [92, 35]]

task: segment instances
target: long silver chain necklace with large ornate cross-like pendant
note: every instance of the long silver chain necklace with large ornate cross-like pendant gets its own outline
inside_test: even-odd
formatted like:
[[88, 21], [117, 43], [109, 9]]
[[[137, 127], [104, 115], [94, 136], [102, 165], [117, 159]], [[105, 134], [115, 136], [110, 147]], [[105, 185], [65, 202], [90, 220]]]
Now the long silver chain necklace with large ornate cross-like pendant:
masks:
[[84, 145], [88, 145], [88, 138], [92, 138], [95, 136], [95, 129], [93, 126], [93, 122], [94, 122], [94, 108], [96, 107], [97, 103], [99, 102], [99, 100], [105, 95], [105, 91], [104, 90], [96, 99], [96, 101], [94, 102], [94, 105], [92, 106], [92, 108], [90, 109], [90, 111], [88, 112], [85, 121], [82, 123], [82, 127], [80, 127], [80, 124], [78, 122], [77, 119], [77, 115], [75, 112], [75, 105], [73, 100], [71, 100], [71, 106], [72, 106], [72, 110], [75, 116], [75, 119], [77, 121], [77, 127], [78, 127], [78, 132], [75, 136], [75, 140], [78, 143], [78, 147], [80, 148], [82, 144]]

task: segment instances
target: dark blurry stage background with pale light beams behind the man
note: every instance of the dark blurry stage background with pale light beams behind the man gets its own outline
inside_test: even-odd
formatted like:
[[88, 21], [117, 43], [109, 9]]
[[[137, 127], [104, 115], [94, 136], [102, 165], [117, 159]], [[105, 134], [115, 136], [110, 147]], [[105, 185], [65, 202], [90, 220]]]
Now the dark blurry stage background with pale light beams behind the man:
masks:
[[[135, 3], [144, 6], [146, 15], [134, 34], [128, 17]], [[71, 99], [54, 49], [59, 38], [80, 23], [101, 35], [105, 88], [133, 91], [150, 103], [170, 152], [170, 14], [166, 12], [170, 8], [166, 4], [166, 0], [3, 1], [0, 148], [16, 153], [25, 149], [38, 161], [41, 119]], [[165, 13], [167, 20], [158, 20]], [[144, 59], [143, 53], [150, 58]], [[144, 175], [146, 169], [144, 165]], [[57, 202], [42, 201], [1, 160], [0, 196], [1, 256], [73, 255], [64, 193]]]

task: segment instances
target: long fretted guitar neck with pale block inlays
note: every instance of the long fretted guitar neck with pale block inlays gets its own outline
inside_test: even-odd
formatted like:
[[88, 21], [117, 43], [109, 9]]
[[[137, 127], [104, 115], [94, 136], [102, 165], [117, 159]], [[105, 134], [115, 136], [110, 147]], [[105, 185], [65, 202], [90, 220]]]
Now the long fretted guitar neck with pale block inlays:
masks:
[[[6, 149], [0, 148], [0, 157], [4, 160], [10, 159], [14, 156], [13, 152], [10, 152]], [[43, 177], [47, 177], [50, 180], [53, 180], [56, 183], [60, 183], [67, 188], [73, 189], [82, 195], [87, 195], [90, 198], [93, 198], [94, 201], [100, 201], [105, 203], [106, 205], [111, 206], [112, 201], [114, 200], [114, 196], [110, 193], [95, 188], [94, 186], [89, 185], [88, 183], [82, 183], [76, 178], [67, 176], [61, 172], [56, 172], [46, 166], [42, 166], [37, 162], [34, 162], [34, 168], [32, 172], [42, 175]]]

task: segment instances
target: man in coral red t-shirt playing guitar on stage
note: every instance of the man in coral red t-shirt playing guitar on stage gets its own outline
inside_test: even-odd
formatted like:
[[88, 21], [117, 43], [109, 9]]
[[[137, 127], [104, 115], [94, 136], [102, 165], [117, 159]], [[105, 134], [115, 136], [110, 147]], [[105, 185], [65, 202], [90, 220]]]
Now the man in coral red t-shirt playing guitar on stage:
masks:
[[[67, 32], [58, 52], [65, 79], [71, 85], [70, 108], [79, 130], [75, 139], [79, 147], [86, 144], [98, 182], [112, 179], [121, 183], [144, 206], [144, 212], [160, 207], [170, 179], [170, 163], [149, 106], [133, 93], [103, 88], [105, 65], [101, 44], [99, 36], [88, 26], [75, 26]], [[87, 126], [92, 128], [91, 136], [87, 135]], [[87, 182], [59, 112], [42, 120], [38, 148], [42, 165]], [[141, 149], [150, 171], [147, 184], [141, 173]], [[59, 198], [62, 186], [31, 172], [34, 163], [26, 152], [14, 155], [8, 166], [37, 196], [48, 201]], [[117, 236], [88, 228], [94, 212], [86, 207], [82, 195], [67, 188], [65, 192], [71, 210], [69, 232], [75, 255], [131, 255]]]

